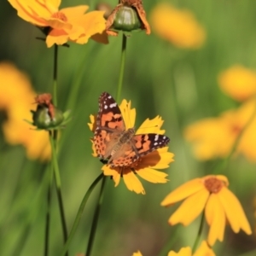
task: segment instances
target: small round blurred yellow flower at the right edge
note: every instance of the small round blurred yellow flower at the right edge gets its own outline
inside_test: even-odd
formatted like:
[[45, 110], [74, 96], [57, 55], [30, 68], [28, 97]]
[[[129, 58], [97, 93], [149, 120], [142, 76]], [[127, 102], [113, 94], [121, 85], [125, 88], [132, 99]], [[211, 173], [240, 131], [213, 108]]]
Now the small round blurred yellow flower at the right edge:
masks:
[[219, 74], [218, 84], [227, 95], [245, 101], [256, 94], [256, 72], [236, 65]]

